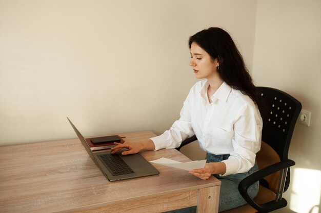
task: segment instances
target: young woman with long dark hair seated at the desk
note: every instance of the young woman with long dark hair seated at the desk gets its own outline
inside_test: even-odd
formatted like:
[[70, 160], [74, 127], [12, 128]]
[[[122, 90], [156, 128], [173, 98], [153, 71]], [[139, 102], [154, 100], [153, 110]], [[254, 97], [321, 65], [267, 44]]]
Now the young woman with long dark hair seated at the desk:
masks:
[[[262, 117], [256, 87], [231, 36], [220, 28], [209, 28], [189, 39], [190, 66], [198, 81], [190, 90], [180, 119], [162, 135], [142, 143], [118, 144], [115, 153], [176, 148], [196, 135], [207, 152], [204, 169], [189, 171], [200, 179], [217, 177], [220, 187], [219, 211], [246, 204], [238, 193], [238, 183], [257, 170], [256, 153], [260, 149]], [[258, 183], [249, 188], [255, 197]], [[195, 207], [172, 212], [195, 212]]]

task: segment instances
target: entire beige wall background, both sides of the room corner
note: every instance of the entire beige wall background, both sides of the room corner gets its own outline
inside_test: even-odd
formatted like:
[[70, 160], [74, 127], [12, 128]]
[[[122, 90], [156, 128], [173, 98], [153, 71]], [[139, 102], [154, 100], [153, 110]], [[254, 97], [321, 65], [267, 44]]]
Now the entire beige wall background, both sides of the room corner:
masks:
[[85, 136], [162, 133], [196, 81], [188, 37], [219, 26], [257, 85], [311, 111], [285, 194], [288, 212], [309, 212], [320, 204], [320, 11], [319, 0], [0, 0], [0, 146], [74, 138], [66, 116]]

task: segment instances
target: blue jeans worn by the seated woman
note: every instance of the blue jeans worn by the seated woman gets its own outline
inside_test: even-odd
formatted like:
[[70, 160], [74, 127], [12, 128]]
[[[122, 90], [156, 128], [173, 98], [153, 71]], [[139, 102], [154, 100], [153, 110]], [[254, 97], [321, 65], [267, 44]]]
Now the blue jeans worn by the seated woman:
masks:
[[[214, 155], [207, 153], [206, 162], [220, 162], [222, 160], [228, 159], [230, 155]], [[237, 173], [233, 175], [227, 175], [220, 177], [219, 175], [214, 175], [217, 179], [221, 181], [220, 193], [219, 193], [219, 206], [218, 212], [225, 211], [231, 208], [242, 206], [246, 204], [246, 201], [238, 192], [238, 183], [246, 178], [247, 176], [253, 174], [258, 170], [257, 163], [255, 161], [254, 167], [248, 172]], [[248, 193], [251, 198], [254, 198], [258, 193], [258, 182], [254, 183], [248, 188]], [[196, 206], [177, 209], [173, 211], [167, 211], [166, 213], [194, 213], [196, 212]]]

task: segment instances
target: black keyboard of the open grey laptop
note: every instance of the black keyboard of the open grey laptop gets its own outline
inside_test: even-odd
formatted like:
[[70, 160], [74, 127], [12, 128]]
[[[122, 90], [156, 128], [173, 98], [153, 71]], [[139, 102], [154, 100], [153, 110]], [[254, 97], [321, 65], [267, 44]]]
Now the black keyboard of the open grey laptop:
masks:
[[98, 157], [104, 162], [109, 172], [114, 176], [134, 173], [118, 154], [102, 154], [98, 155]]

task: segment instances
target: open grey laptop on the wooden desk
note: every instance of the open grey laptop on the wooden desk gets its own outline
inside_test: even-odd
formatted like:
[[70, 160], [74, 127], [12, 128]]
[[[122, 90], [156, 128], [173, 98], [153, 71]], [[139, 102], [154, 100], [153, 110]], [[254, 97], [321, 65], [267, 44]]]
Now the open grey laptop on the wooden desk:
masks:
[[110, 150], [92, 151], [84, 136], [77, 130], [68, 117], [67, 119], [91, 159], [109, 181], [159, 174], [159, 171], [139, 153], [122, 155], [121, 153], [127, 149], [119, 150], [115, 154], [110, 154]]

